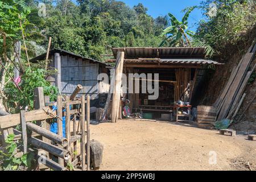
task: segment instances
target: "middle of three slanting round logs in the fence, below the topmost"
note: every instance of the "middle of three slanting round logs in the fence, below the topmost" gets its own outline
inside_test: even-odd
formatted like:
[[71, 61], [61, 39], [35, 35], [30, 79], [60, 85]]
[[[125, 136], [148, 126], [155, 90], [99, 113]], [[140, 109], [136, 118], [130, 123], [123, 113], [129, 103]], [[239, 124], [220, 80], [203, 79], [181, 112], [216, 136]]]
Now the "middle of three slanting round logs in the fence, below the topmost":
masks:
[[31, 137], [28, 139], [28, 142], [37, 148], [42, 148], [43, 150], [58, 156], [61, 159], [68, 160], [70, 158], [70, 152], [65, 150], [64, 148], [60, 148], [58, 146], [54, 146], [53, 144], [49, 144], [44, 142], [43, 140]]

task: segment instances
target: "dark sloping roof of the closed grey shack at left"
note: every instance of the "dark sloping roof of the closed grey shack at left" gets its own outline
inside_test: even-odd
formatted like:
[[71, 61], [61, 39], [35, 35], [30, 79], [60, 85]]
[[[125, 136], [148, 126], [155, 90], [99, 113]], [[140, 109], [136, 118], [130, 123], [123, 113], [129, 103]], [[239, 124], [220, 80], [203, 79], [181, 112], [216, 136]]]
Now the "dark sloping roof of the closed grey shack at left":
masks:
[[[73, 52], [65, 51], [63, 49], [53, 48], [53, 49], [51, 49], [49, 51], [49, 54], [53, 54], [53, 53], [64, 53], [64, 54], [72, 55], [72, 56], [77, 57], [77, 58], [81, 58], [81, 59], [85, 59], [85, 60], [90, 60], [90, 61], [92, 61], [94, 63], [99, 63], [99, 64], [104, 64], [106, 66], [110, 66], [108, 63], [104, 63], [104, 62], [101, 62], [101, 61], [98, 61], [98, 60], [90, 59], [88, 57], [77, 55], [77, 54], [75, 54]], [[43, 53], [42, 55], [34, 57], [33, 59], [30, 60], [30, 62], [31, 63], [36, 63], [36, 61], [44, 60], [44, 59], [46, 59], [46, 53]]]

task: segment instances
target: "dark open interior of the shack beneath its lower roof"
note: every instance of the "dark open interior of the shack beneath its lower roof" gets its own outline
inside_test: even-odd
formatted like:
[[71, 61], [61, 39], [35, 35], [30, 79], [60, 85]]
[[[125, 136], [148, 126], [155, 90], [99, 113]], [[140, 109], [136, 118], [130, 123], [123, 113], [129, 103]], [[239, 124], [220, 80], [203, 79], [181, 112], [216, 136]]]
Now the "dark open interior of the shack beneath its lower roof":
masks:
[[[197, 68], [163, 67], [152, 69], [137, 67], [127, 68], [126, 71], [126, 73], [138, 73], [140, 76], [139, 78], [133, 78], [134, 85], [136, 85], [136, 81], [139, 81], [139, 93], [135, 92], [134, 88], [134, 93], [127, 94], [126, 98], [129, 101], [123, 103], [129, 106], [133, 117], [176, 121], [177, 105], [182, 107], [178, 110], [179, 114], [190, 114], [190, 110], [183, 107], [184, 104], [178, 101], [187, 103], [191, 100], [193, 85], [195, 85], [193, 80], [196, 80]], [[143, 74], [146, 75], [146, 79]], [[152, 77], [148, 78], [149, 74], [152, 74]], [[155, 78], [154, 74], [158, 74], [158, 78]], [[146, 82], [142, 83], [145, 80]], [[148, 92], [151, 88], [154, 89], [153, 93]], [[143, 92], [143, 89], [146, 92]], [[158, 94], [155, 92], [158, 92]], [[151, 99], [150, 96], [152, 95], [157, 98]]]

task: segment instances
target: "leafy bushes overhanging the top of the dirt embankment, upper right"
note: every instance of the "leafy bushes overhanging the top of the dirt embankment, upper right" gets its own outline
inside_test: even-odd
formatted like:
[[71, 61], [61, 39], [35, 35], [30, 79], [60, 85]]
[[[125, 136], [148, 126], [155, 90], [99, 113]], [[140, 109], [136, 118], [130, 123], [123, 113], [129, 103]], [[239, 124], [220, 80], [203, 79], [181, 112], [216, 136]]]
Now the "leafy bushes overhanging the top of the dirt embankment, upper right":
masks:
[[[216, 6], [216, 14], [209, 15], [209, 7]], [[193, 46], [212, 47], [222, 56], [246, 41], [246, 34], [255, 28], [256, 2], [253, 0], [207, 0], [200, 9], [205, 15], [194, 36]], [[230, 48], [230, 49], [229, 49]]]

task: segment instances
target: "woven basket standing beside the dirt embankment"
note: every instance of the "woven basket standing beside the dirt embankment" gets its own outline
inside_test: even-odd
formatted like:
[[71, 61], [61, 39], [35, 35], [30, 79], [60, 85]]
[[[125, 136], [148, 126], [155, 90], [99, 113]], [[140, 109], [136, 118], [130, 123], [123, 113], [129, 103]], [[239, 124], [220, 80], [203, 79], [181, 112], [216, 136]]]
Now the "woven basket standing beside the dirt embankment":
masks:
[[217, 117], [216, 107], [197, 106], [197, 122], [214, 125]]

